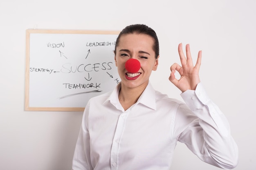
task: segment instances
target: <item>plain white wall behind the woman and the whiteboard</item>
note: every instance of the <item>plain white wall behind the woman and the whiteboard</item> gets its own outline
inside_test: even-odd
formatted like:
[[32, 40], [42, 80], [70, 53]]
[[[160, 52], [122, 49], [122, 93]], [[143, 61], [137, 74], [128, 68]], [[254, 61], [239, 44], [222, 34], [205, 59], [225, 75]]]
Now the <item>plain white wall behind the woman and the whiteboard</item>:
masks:
[[[200, 78], [227, 116], [240, 151], [236, 170], [256, 167], [255, 0], [1, 0], [0, 169], [70, 170], [82, 112], [24, 111], [25, 30], [121, 30], [144, 23], [160, 41], [155, 89], [181, 99], [169, 81], [177, 45], [203, 59]], [[159, 83], [160, 82], [160, 83]], [[178, 144], [173, 170], [218, 170]]]

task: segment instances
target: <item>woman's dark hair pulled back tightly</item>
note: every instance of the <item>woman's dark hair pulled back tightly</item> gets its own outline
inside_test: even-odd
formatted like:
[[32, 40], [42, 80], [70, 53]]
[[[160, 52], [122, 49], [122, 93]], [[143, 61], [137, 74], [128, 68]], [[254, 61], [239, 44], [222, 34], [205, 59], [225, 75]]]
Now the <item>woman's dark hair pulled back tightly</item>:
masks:
[[154, 44], [153, 44], [153, 50], [155, 51], [155, 58], [157, 59], [159, 55], [159, 42], [157, 38], [157, 34], [152, 28], [149, 28], [148, 26], [144, 24], [134, 24], [130, 26], [126, 26], [121, 33], [119, 33], [117, 37], [117, 41], [115, 44], [115, 51], [114, 53], [116, 54], [117, 46], [119, 45], [119, 41], [122, 35], [127, 35], [127, 34], [132, 34], [132, 33], [137, 33], [137, 34], [145, 34], [149, 35], [150, 37], [153, 38]]

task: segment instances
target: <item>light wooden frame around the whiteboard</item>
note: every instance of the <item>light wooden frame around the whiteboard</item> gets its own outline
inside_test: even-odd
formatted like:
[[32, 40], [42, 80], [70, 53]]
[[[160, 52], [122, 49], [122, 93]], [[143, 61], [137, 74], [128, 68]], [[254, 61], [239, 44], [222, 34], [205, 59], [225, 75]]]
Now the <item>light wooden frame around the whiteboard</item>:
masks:
[[29, 60], [30, 60], [30, 34], [102, 34], [119, 35], [120, 31], [92, 31], [92, 30], [26, 30], [26, 71], [25, 71], [25, 111], [83, 111], [84, 107], [29, 107]]

